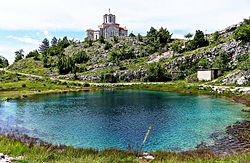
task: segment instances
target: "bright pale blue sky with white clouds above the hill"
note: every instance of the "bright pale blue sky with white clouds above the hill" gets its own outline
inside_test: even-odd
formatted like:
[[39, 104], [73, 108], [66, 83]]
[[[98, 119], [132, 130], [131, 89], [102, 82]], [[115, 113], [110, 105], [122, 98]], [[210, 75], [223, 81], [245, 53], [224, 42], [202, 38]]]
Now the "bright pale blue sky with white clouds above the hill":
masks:
[[212, 33], [250, 17], [250, 0], [1, 0], [0, 55], [14, 61], [53, 36], [83, 41], [111, 10], [117, 23], [145, 35], [151, 26], [173, 37], [202, 30]]

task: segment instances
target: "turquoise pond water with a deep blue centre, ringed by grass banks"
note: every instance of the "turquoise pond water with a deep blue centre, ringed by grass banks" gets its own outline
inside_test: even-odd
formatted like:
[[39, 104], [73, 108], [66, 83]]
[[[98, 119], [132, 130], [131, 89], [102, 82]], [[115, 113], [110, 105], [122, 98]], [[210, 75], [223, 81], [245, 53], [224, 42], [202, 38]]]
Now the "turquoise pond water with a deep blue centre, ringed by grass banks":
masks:
[[53, 144], [84, 148], [187, 150], [213, 143], [213, 133], [247, 118], [247, 107], [221, 98], [114, 90], [37, 97], [0, 103], [1, 128], [19, 129]]

